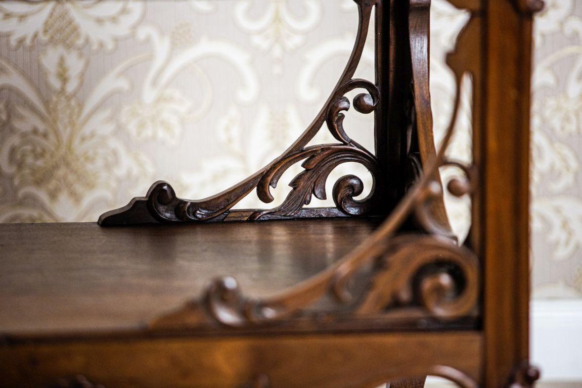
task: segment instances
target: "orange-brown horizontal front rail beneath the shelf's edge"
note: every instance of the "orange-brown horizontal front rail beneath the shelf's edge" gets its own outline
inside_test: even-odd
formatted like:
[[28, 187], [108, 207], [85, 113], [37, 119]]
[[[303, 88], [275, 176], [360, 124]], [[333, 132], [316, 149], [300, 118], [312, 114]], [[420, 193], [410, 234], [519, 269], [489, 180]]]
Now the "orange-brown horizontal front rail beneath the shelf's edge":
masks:
[[24, 343], [0, 348], [0, 386], [38, 386], [79, 371], [105, 387], [239, 388], [259, 375], [274, 388], [374, 388], [427, 374], [463, 383], [479, 378], [481, 346], [473, 332]]

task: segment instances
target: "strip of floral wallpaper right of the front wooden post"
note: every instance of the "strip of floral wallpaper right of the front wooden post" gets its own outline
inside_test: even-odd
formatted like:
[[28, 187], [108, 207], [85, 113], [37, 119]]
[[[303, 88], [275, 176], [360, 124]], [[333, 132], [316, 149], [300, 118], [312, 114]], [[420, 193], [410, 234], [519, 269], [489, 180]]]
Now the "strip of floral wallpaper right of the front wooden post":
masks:
[[534, 297], [582, 297], [582, 2], [535, 19], [531, 216]]

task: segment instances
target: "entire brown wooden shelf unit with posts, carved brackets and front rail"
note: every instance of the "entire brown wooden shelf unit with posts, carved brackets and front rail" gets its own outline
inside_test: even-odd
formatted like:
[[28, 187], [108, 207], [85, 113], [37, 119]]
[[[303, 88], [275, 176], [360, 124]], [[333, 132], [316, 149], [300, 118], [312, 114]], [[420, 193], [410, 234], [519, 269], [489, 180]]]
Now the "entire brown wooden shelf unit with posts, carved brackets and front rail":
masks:
[[[529, 69], [543, 2], [450, 1], [470, 12], [446, 56], [455, 106], [438, 151], [430, 1], [354, 2], [358, 32], [336, 87], [269, 165], [198, 200], [157, 181], [101, 216], [111, 228], [0, 225], [0, 386], [410, 387], [427, 375], [533, 386]], [[368, 35], [373, 81], [354, 78]], [[448, 157], [466, 86], [470, 165]], [[344, 130], [350, 106], [374, 113], [374, 150]], [[321, 130], [336, 141], [317, 144]], [[356, 199], [354, 175], [325, 193], [332, 170], [354, 162], [370, 172], [370, 194]], [[296, 163], [278, 207], [232, 211], [252, 191], [271, 203]], [[443, 185], [444, 166], [463, 177]], [[471, 197], [467, 244], [450, 238], [445, 193]], [[313, 197], [335, 208], [304, 209]], [[116, 227], [152, 222], [166, 225]]]

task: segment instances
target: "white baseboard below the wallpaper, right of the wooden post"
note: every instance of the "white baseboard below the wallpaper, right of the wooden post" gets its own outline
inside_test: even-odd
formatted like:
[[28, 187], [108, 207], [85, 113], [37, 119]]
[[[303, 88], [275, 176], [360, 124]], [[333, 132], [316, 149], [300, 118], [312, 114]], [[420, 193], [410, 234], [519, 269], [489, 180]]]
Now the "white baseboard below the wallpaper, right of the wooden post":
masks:
[[531, 363], [543, 382], [582, 386], [582, 300], [533, 300], [530, 310]]

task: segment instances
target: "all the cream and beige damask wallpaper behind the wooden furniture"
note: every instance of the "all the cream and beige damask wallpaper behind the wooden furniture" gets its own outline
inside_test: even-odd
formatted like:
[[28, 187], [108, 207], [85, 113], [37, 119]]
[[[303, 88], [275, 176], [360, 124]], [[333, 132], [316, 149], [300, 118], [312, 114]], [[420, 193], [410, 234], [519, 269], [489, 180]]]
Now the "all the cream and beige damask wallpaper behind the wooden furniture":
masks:
[[[535, 23], [534, 296], [582, 297], [582, 3], [546, 3]], [[437, 142], [454, 92], [444, 58], [467, 20], [434, 0]], [[352, 0], [0, 2], [0, 222], [96, 220], [157, 179], [187, 198], [237, 183], [311, 122], [356, 28]], [[368, 44], [356, 76], [374, 79], [373, 54]], [[469, 84], [463, 92], [451, 152], [470, 161]], [[372, 120], [351, 111], [345, 120], [368, 149]], [[369, 190], [359, 165], [338, 167], [329, 183], [346, 170]], [[269, 207], [288, 191], [279, 185]], [[265, 206], [253, 194], [237, 207]], [[469, 206], [448, 200], [460, 236]]]

